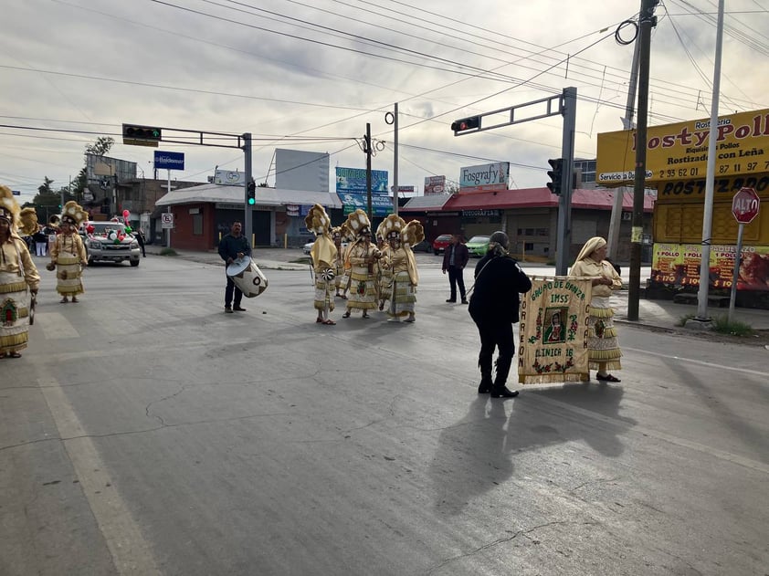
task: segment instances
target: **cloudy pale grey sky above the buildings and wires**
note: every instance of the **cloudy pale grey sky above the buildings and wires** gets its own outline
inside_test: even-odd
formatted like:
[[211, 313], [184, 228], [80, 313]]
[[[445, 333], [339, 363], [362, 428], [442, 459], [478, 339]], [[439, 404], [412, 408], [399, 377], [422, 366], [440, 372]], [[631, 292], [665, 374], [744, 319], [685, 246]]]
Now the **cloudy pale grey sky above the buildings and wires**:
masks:
[[[397, 103], [400, 185], [421, 193], [427, 176], [456, 182], [462, 167], [511, 162], [511, 188], [541, 187], [547, 160], [561, 155], [560, 115], [458, 137], [452, 120], [574, 87], [575, 156], [595, 158], [597, 134], [623, 128], [639, 8], [640, 0], [0, 0], [0, 183], [21, 191], [21, 202], [46, 177], [58, 190], [100, 136], [115, 139], [111, 157], [152, 177], [155, 149], [122, 143], [121, 124], [135, 123], [161, 126], [165, 137], [250, 132], [254, 177], [274, 185], [276, 148], [328, 152], [332, 175], [336, 166], [365, 168], [370, 123], [372, 167], [389, 171], [392, 184], [388, 120]], [[716, 0], [657, 6], [649, 126], [710, 118], [717, 9]], [[769, 108], [767, 79], [769, 0], [729, 0], [720, 114]], [[178, 180], [244, 169], [237, 148], [157, 150], [184, 152]]]

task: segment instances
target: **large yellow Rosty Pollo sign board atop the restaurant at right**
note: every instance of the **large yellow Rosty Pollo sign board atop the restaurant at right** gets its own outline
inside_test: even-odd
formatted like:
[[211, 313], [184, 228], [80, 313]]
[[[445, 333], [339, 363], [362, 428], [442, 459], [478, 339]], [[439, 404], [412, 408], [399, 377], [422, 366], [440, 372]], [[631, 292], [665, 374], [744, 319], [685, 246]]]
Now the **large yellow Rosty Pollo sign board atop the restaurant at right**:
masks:
[[[708, 167], [711, 120], [651, 126], [647, 131], [646, 183], [704, 179]], [[632, 183], [636, 131], [598, 134], [595, 182]], [[716, 178], [769, 172], [769, 109], [719, 118], [716, 129]]]

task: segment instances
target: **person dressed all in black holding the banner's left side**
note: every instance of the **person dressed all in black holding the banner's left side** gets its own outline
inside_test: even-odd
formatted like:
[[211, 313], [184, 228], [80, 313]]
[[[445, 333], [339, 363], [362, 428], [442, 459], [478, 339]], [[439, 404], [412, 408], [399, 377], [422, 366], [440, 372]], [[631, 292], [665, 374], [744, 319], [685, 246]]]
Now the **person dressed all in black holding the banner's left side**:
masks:
[[[492, 398], [514, 398], [505, 386], [515, 355], [512, 325], [519, 320], [521, 297], [532, 289], [532, 281], [508, 255], [510, 246], [504, 232], [495, 232], [489, 239], [489, 251], [475, 267], [475, 286], [470, 297], [470, 317], [478, 326], [480, 335], [480, 384], [478, 393], [491, 393]], [[491, 359], [499, 348], [497, 375], [491, 380]]]

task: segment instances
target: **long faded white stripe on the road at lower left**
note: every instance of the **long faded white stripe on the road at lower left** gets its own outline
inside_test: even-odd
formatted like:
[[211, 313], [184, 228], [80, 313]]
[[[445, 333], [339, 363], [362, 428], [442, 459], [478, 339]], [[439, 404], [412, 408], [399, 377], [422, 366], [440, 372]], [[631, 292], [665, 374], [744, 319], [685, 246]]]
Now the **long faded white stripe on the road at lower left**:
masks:
[[62, 443], [110, 549], [115, 569], [125, 576], [159, 575], [152, 547], [143, 538], [59, 382], [49, 373], [47, 382], [40, 383], [59, 436], [70, 438]]

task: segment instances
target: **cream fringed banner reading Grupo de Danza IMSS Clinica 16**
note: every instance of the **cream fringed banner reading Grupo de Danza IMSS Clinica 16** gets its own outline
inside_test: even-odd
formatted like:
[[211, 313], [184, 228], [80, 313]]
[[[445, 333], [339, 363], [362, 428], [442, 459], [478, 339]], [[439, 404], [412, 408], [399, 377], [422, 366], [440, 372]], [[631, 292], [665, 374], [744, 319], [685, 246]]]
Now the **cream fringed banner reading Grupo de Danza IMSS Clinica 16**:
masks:
[[590, 279], [532, 277], [521, 299], [518, 381], [587, 382]]

